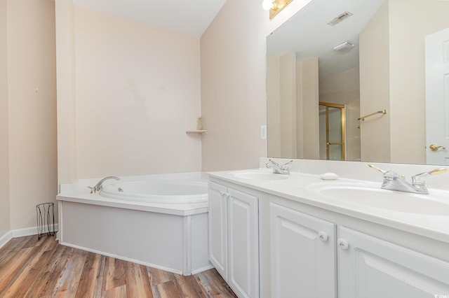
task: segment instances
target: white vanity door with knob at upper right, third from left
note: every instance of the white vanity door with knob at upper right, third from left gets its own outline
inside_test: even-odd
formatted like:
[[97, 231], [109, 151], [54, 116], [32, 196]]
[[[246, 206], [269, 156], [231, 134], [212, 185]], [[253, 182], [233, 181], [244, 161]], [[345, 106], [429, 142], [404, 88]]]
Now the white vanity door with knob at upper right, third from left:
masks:
[[335, 225], [278, 204], [269, 208], [272, 297], [335, 297]]

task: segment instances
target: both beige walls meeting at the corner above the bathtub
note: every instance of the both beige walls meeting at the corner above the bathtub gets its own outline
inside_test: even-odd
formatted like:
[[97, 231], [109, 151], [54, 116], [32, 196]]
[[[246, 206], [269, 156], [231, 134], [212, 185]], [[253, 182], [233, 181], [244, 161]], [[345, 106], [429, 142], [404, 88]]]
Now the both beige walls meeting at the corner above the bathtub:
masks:
[[[269, 22], [259, 0], [228, 0], [199, 41], [56, 0], [59, 183], [257, 166], [265, 36], [309, 1]], [[208, 134], [185, 134], [200, 114]]]

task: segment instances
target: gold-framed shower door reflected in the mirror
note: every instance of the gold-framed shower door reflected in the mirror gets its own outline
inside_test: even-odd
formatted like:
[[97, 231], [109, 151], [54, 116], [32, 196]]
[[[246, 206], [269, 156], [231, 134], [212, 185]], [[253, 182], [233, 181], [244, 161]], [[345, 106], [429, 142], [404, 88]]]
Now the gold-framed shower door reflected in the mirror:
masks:
[[320, 159], [346, 159], [344, 118], [344, 105], [319, 103]]

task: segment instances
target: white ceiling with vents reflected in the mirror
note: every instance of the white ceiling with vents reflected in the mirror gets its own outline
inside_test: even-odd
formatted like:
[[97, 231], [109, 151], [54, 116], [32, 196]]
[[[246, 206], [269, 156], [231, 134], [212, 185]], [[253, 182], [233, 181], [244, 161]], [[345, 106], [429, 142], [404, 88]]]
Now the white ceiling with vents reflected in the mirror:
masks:
[[[319, 76], [325, 78], [358, 66], [358, 34], [380, 8], [383, 0], [314, 0], [267, 37], [267, 52], [283, 55], [295, 51], [297, 59], [319, 57]], [[349, 11], [351, 17], [328, 25]], [[336, 52], [335, 45], [354, 43], [352, 50]]]

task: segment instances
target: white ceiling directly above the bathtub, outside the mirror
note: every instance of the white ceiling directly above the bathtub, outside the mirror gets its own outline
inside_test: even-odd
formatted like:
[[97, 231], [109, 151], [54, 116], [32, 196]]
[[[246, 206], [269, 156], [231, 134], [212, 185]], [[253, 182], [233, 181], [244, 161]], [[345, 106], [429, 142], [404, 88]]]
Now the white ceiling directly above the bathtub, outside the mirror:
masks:
[[201, 37], [226, 0], [73, 0], [75, 6]]

